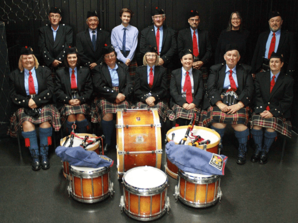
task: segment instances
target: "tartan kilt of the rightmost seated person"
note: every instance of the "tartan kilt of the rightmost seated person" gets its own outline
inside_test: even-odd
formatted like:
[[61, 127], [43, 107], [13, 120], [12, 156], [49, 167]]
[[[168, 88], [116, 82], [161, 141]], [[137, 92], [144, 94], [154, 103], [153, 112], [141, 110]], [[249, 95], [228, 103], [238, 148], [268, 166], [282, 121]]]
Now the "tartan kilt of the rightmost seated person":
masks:
[[251, 117], [251, 128], [258, 125], [265, 128], [273, 128], [276, 132], [281, 133], [289, 138], [292, 137], [292, 124], [282, 117], [272, 117], [264, 119], [260, 115], [253, 114]]

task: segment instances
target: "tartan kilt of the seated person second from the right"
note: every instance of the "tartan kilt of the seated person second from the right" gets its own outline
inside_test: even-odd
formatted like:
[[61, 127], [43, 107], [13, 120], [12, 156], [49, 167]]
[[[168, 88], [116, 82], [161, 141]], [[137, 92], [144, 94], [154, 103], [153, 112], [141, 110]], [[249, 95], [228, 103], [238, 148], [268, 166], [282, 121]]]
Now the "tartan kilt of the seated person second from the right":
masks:
[[209, 106], [207, 111], [202, 111], [200, 124], [202, 124], [202, 126], [204, 127], [210, 126], [213, 122], [247, 125], [251, 112], [252, 110], [249, 106], [239, 109], [238, 112], [234, 114], [221, 112], [221, 110], [217, 106]]

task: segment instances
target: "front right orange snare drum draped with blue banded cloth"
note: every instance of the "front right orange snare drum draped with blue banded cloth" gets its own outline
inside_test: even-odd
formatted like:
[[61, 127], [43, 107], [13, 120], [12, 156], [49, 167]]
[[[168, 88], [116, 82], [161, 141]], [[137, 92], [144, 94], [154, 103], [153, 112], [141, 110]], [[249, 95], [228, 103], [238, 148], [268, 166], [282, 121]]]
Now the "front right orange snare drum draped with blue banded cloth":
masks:
[[174, 196], [176, 200], [191, 207], [209, 207], [222, 196], [219, 184], [219, 175], [193, 174], [179, 170]]

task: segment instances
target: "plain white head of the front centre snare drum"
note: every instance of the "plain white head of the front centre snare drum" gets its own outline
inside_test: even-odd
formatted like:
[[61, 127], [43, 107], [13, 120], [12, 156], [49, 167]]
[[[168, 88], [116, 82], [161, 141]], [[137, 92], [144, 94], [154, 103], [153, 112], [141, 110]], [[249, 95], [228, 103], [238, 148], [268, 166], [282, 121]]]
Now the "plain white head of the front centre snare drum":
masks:
[[166, 181], [166, 175], [152, 166], [139, 166], [127, 171], [124, 180], [136, 188], [156, 188]]

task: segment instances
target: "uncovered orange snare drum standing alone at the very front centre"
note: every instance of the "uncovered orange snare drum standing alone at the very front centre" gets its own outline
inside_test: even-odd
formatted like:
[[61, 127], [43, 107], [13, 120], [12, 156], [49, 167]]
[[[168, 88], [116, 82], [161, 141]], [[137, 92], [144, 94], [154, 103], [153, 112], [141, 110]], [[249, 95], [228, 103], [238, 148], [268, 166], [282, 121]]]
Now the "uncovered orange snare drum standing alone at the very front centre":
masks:
[[170, 210], [167, 176], [152, 166], [139, 166], [123, 176], [121, 212], [138, 220], [154, 220]]

